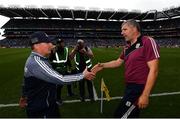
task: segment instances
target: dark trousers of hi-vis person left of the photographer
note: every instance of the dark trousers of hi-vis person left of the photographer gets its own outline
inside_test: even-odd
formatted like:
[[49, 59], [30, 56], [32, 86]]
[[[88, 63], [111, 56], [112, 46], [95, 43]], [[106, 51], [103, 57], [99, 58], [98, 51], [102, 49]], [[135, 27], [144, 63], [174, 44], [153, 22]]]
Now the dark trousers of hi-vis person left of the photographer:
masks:
[[[57, 85], [57, 100], [61, 100], [61, 90], [63, 88], [63, 85]], [[71, 84], [67, 85], [68, 95], [72, 95], [72, 87]]]

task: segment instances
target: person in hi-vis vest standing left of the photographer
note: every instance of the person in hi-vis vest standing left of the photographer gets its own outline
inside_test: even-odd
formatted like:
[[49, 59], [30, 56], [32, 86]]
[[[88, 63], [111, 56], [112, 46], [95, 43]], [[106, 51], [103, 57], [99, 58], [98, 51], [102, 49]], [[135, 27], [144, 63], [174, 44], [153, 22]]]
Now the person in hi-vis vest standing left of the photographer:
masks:
[[[53, 69], [59, 72], [62, 75], [67, 75], [71, 73], [71, 61], [69, 59], [69, 48], [65, 47], [65, 43], [63, 39], [57, 39], [56, 41], [56, 48], [52, 51], [49, 60]], [[61, 91], [63, 85], [57, 85], [57, 103], [58, 105], [62, 105], [63, 101], [61, 98]], [[67, 85], [68, 96], [73, 96], [74, 93], [72, 92], [71, 84]]]

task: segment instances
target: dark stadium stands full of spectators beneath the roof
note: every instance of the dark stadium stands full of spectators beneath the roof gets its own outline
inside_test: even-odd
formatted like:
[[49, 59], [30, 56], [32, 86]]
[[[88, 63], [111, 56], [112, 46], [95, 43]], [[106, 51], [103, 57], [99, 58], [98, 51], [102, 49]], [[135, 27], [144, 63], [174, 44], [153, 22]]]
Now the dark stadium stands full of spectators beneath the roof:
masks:
[[[161, 47], [180, 47], [179, 20], [141, 22], [142, 33], [152, 36]], [[110, 21], [12, 19], [3, 26], [6, 39], [0, 40], [0, 46], [29, 47], [29, 35], [42, 30], [64, 39], [69, 47], [73, 47], [79, 38], [91, 47], [117, 47], [125, 43], [120, 26], [121, 22]]]

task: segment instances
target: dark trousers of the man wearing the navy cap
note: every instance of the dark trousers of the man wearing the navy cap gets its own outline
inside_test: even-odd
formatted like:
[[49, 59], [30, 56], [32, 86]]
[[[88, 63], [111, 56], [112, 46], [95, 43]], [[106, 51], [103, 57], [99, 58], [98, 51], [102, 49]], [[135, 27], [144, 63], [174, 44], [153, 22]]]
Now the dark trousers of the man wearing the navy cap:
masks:
[[45, 109], [26, 109], [28, 118], [59, 118], [59, 107], [57, 104], [51, 105]]

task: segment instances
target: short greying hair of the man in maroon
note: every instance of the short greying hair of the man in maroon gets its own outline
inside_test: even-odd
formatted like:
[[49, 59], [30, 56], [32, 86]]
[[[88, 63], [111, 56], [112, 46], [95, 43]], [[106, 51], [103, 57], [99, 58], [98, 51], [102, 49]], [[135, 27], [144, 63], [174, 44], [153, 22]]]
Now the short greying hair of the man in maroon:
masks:
[[139, 23], [136, 22], [136, 20], [134, 20], [134, 19], [128, 19], [128, 20], [126, 20], [126, 21], [124, 21], [124, 22], [122, 23], [121, 27], [122, 27], [123, 25], [125, 25], [125, 24], [132, 25], [133, 27], [136, 27], [139, 32], [141, 32], [141, 27], [140, 27]]

